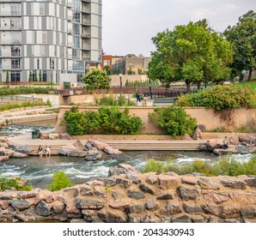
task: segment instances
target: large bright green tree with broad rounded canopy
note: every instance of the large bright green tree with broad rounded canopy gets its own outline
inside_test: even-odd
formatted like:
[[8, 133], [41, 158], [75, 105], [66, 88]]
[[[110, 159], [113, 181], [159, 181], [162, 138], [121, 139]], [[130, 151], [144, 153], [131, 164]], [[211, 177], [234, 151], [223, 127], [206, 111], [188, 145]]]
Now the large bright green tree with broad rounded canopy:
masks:
[[205, 20], [176, 26], [152, 38], [156, 51], [149, 63], [149, 78], [171, 82], [185, 81], [187, 93], [191, 83], [218, 81], [229, 77], [232, 50], [229, 42], [211, 30]]

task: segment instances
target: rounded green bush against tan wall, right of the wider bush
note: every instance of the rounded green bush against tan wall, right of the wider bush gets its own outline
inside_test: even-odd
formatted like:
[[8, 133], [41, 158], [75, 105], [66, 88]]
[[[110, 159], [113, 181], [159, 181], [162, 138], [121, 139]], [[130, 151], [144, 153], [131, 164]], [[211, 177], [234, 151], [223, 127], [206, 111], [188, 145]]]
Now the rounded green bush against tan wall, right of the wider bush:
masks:
[[196, 119], [177, 106], [156, 108], [149, 112], [149, 121], [156, 123], [158, 127], [165, 130], [166, 135], [193, 135], [197, 127]]

